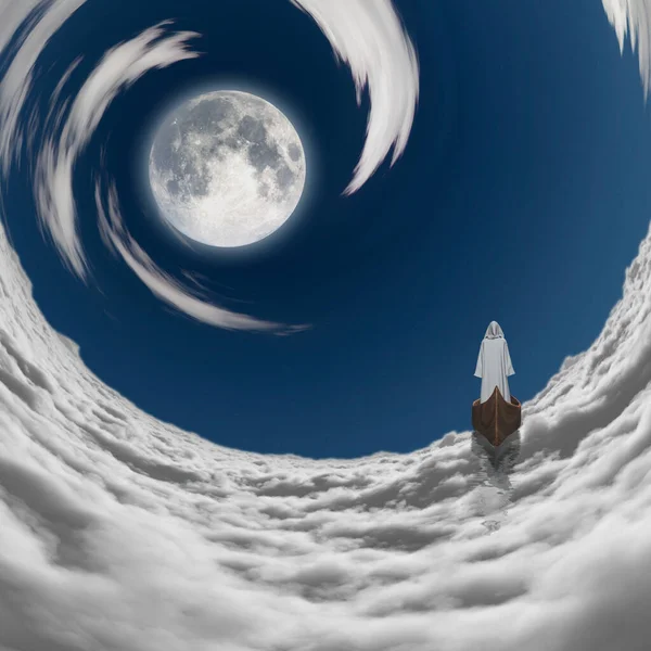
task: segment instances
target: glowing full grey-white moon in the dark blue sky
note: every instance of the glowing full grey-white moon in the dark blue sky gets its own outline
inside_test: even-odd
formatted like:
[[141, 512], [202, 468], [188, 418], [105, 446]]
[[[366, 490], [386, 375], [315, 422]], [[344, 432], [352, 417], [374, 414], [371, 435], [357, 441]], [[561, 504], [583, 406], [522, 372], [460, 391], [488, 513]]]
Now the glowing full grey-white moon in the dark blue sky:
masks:
[[163, 218], [191, 240], [220, 247], [277, 231], [298, 205], [305, 174], [292, 123], [266, 100], [230, 90], [169, 113], [149, 161]]

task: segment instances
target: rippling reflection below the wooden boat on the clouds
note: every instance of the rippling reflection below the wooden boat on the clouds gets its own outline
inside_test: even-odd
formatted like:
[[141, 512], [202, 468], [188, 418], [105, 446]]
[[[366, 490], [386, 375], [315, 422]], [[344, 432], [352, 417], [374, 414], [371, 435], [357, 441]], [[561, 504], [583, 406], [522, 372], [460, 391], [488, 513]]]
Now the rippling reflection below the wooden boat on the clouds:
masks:
[[508, 516], [512, 503], [513, 487], [509, 475], [520, 457], [520, 431], [511, 434], [495, 448], [477, 432], [473, 432], [471, 451], [480, 462], [476, 477], [478, 508], [486, 518], [482, 524], [489, 531], [497, 531]]

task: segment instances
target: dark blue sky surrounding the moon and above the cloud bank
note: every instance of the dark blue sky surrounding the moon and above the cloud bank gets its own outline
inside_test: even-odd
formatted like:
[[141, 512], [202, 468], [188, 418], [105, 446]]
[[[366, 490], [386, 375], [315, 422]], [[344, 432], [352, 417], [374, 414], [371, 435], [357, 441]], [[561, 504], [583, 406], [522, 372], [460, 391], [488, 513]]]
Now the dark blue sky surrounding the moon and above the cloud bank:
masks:
[[[159, 20], [203, 35], [202, 59], [150, 74], [115, 102], [77, 169], [99, 288], [73, 278], [42, 240], [26, 169], [8, 200], [46, 317], [142, 409], [245, 450], [408, 451], [470, 427], [490, 320], [505, 330], [511, 393], [523, 401], [599, 334], [651, 200], [637, 63], [621, 59], [601, 3], [396, 4], [419, 53], [421, 101], [405, 156], [352, 197], [341, 192], [368, 105], [357, 107], [349, 71], [290, 2], [163, 0], [146, 15], [126, 1], [101, 14], [90, 3], [47, 50], [41, 63], [54, 76], [43, 77], [43, 97], [79, 51], [81, 80], [105, 49]], [[308, 143], [309, 192], [272, 250], [192, 256], [155, 224], [143, 142], [167, 102], [229, 84], [295, 120]], [[227, 307], [314, 328], [289, 337], [227, 332], [152, 296], [98, 235], [86, 173], [103, 142], [125, 219], [158, 264], [201, 273]]]

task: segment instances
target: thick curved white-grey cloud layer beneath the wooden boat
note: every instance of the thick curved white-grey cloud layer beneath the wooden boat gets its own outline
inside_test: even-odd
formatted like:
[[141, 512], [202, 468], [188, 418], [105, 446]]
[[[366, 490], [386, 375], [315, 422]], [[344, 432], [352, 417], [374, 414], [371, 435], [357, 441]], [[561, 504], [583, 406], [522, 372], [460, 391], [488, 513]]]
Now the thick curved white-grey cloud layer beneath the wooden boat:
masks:
[[240, 452], [94, 378], [0, 227], [0, 649], [646, 651], [650, 394], [651, 231], [500, 459]]

